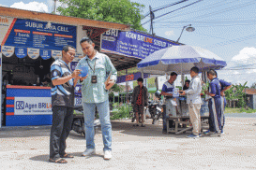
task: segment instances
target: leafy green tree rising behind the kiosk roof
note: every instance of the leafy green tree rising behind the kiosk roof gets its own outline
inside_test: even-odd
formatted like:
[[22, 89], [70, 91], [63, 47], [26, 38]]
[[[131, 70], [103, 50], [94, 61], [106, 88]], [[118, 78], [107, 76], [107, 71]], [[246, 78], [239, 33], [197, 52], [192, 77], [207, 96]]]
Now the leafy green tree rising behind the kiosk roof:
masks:
[[72, 16], [97, 21], [112, 21], [132, 25], [131, 28], [146, 31], [142, 24], [143, 5], [129, 0], [59, 0], [63, 6], [57, 11]]

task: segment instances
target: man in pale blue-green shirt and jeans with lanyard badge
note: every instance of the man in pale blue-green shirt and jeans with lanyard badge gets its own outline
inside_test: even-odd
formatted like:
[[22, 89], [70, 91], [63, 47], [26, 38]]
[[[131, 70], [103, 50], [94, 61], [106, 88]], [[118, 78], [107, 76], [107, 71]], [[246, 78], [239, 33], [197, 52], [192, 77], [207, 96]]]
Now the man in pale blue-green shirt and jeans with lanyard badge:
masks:
[[[104, 159], [109, 160], [112, 158], [112, 125], [108, 90], [115, 83], [117, 71], [107, 55], [94, 49], [95, 44], [90, 38], [83, 37], [80, 44], [86, 56], [81, 59], [76, 68], [88, 67], [87, 78], [80, 78], [86, 139], [86, 149], [82, 155], [87, 157], [96, 153], [94, 120], [97, 106], [104, 143]], [[109, 80], [106, 81], [107, 79]]]

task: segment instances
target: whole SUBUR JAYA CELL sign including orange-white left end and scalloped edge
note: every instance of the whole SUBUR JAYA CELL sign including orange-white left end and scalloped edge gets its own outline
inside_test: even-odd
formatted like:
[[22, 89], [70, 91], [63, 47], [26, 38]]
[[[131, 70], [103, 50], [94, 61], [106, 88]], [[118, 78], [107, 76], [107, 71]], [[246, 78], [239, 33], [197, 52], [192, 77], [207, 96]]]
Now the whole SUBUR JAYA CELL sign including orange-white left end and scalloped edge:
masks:
[[[66, 45], [76, 48], [76, 39], [76, 26], [59, 23], [51, 23], [49, 26], [45, 21], [0, 16], [0, 50], [6, 57], [11, 57], [15, 52], [16, 55], [23, 58], [27, 52], [32, 59], [43, 55], [42, 58], [47, 60], [54, 52], [45, 50], [61, 52]], [[20, 49], [14, 50], [14, 48]], [[27, 50], [23, 48], [27, 48]], [[58, 56], [53, 55], [53, 57], [57, 58]]]

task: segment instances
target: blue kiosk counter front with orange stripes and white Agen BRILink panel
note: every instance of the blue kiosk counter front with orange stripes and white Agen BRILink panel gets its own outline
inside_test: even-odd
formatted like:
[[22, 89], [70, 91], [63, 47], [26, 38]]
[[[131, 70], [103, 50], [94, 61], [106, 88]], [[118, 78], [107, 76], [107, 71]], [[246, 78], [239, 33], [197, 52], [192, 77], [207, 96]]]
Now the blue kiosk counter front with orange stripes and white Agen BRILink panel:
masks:
[[51, 88], [7, 85], [6, 99], [7, 126], [52, 124]]

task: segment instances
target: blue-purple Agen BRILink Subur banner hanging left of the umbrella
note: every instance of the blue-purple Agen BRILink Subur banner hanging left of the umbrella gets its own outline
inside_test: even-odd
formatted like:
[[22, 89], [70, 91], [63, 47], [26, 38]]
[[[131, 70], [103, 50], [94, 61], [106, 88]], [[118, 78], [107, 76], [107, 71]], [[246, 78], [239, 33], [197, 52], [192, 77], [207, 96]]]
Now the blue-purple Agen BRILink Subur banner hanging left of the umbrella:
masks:
[[173, 45], [178, 43], [134, 31], [109, 30], [102, 35], [101, 51], [144, 59], [156, 50]]

